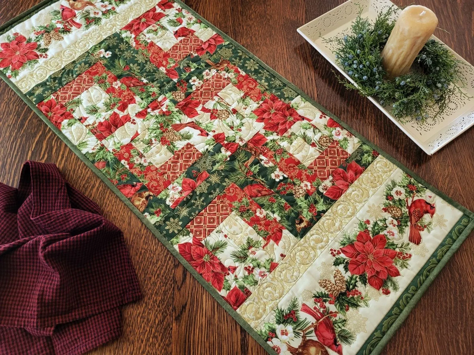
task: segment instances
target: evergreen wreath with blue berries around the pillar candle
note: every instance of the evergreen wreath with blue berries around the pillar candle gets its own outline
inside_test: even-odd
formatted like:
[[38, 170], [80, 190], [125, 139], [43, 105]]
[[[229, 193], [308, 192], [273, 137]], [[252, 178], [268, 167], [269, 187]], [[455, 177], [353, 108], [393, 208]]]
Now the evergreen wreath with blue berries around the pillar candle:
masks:
[[395, 25], [392, 15], [398, 10], [392, 6], [380, 12], [372, 23], [362, 18], [360, 9], [350, 34], [326, 41], [336, 44], [337, 64], [356, 83], [339, 78], [347, 89], [377, 98], [382, 106], [391, 107], [391, 114], [401, 122], [407, 116], [424, 122], [428, 110], [442, 114], [454, 95], [466, 96], [462, 91], [466, 82], [459, 68], [461, 61], [434, 39], [421, 49], [408, 74], [386, 77], [381, 53]]

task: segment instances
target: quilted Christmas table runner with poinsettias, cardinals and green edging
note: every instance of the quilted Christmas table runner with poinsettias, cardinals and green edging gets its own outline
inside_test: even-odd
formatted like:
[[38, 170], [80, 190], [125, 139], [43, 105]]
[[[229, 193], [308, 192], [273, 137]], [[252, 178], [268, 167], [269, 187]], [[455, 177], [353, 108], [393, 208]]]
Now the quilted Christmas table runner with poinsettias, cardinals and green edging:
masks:
[[377, 354], [473, 229], [179, 1], [2, 28], [2, 78], [271, 354]]

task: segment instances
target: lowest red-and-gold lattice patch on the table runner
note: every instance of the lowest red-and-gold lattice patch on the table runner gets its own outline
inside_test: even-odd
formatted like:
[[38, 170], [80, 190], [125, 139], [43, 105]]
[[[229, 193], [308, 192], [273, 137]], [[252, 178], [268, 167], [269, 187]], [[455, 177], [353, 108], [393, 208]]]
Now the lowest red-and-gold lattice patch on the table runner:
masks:
[[222, 200], [222, 196], [218, 195], [188, 223], [186, 228], [193, 234], [194, 238], [200, 241], [204, 240], [231, 212], [229, 206]]

